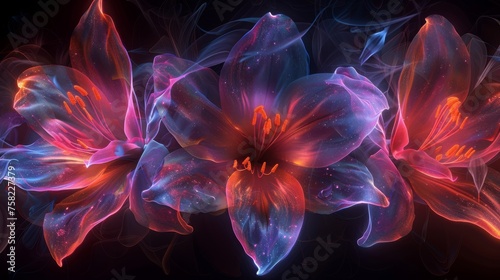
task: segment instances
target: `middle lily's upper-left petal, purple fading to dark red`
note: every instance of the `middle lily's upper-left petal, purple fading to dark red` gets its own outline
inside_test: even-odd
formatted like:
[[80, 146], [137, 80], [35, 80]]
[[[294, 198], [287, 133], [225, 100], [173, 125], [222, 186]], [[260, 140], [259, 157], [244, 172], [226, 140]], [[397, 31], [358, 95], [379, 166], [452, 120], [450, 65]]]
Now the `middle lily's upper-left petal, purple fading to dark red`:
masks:
[[188, 62], [174, 56], [158, 57], [155, 63], [163, 65], [158, 79], [167, 83], [157, 85], [166, 89], [156, 109], [169, 132], [193, 156], [215, 162], [234, 160], [243, 136], [207, 97], [217, 89], [214, 72], [192, 63], [188, 70], [179, 71]]

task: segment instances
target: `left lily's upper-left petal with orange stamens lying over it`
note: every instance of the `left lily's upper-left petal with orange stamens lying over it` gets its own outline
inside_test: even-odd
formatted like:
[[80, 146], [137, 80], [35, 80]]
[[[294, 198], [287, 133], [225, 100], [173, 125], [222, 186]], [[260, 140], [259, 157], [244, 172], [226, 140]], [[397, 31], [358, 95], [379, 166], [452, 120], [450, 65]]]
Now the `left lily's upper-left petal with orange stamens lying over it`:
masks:
[[54, 146], [82, 154], [104, 148], [111, 139], [125, 139], [123, 120], [112, 114], [110, 101], [81, 72], [32, 67], [21, 74], [18, 85], [14, 109]]

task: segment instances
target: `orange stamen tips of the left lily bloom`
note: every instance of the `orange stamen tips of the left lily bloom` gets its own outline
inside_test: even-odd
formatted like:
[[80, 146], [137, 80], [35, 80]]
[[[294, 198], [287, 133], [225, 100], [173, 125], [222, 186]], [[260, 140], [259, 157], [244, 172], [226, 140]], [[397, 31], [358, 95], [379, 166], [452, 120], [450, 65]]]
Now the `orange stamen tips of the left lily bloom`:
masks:
[[[92, 118], [92, 115], [90, 115], [89, 111], [87, 110], [87, 105], [85, 104], [85, 101], [83, 99], [83, 98], [86, 98], [88, 100], [88, 102], [93, 106], [93, 103], [92, 103], [92, 100], [90, 99], [89, 93], [83, 87], [81, 87], [79, 85], [74, 85], [73, 89], [75, 89], [74, 93], [72, 93], [71, 91], [68, 91], [66, 93], [66, 95], [68, 96], [69, 104], [68, 104], [68, 102], [63, 101], [64, 109], [66, 110], [66, 112], [69, 115], [73, 115], [73, 110], [78, 110], [82, 115], [84, 115], [87, 118], [87, 120], [89, 122], [92, 123], [92, 121], [94, 119]], [[78, 93], [81, 96], [83, 96], [83, 98], [80, 97], [78, 95]], [[99, 93], [99, 91], [96, 88], [92, 87], [92, 93], [97, 101], [102, 99], [101, 94]], [[81, 147], [83, 149], [89, 148], [89, 146], [87, 144], [85, 144], [85, 142], [80, 140], [80, 139], [76, 139], [75, 144], [77, 144], [79, 147]]]

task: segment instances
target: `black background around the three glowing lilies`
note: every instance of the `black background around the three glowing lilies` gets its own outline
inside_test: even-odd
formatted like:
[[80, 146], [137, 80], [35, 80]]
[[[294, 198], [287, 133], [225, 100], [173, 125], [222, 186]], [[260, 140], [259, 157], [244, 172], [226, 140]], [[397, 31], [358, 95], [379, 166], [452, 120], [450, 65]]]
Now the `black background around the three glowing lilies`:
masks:
[[[2, 57], [13, 49], [7, 34], [20, 34], [22, 22], [19, 19], [23, 16], [31, 19], [33, 14], [40, 11], [36, 2], [12, 1], [9, 7], [4, 4], [1, 17]], [[137, 2], [143, 8], [161, 11], [159, 7], [162, 7], [165, 14], [169, 14], [165, 11], [175, 7], [179, 16], [190, 15], [204, 3], [187, 0]], [[295, 21], [311, 22], [320, 8], [326, 6], [326, 1], [296, 1], [299, 4], [291, 4], [291, 1], [243, 1], [234, 10], [225, 12], [224, 20], [221, 21], [213, 8], [213, 2], [206, 2], [207, 6], [200, 18], [200, 26], [207, 30], [235, 19], [260, 17], [269, 11], [284, 13]], [[416, 13], [417, 4], [408, 2], [406, 10], [409, 11], [406, 12]], [[90, 3], [88, 0], [72, 0], [61, 5], [59, 12], [49, 19], [35, 38], [29, 40], [30, 43], [43, 44], [54, 57], [62, 56], [59, 61], [65, 61], [64, 51], [67, 50], [69, 36]], [[370, 3], [384, 7], [383, 1]], [[410, 35], [418, 30], [426, 15], [439, 13], [447, 16], [460, 34], [474, 32], [482, 38], [487, 37], [492, 44], [500, 42], [498, 29], [492, 32], [476, 28], [476, 23], [482, 16], [499, 18], [500, 4], [495, 1], [419, 2], [417, 6], [421, 8], [420, 14], [409, 22]], [[352, 5], [351, 9], [352, 7], [357, 5]], [[145, 21], [138, 5], [132, 1], [104, 1], [104, 9], [112, 16], [125, 47], [136, 51], [131, 55], [132, 59], [136, 63], [150, 60], [153, 56], [144, 50], [160, 40], [165, 32], [164, 27], [168, 24], [153, 30]], [[363, 17], [370, 20], [369, 15], [351, 12], [360, 20]], [[498, 165], [496, 163], [497, 168]], [[115, 274], [121, 275], [122, 271], [135, 276], [134, 279], [137, 280], [282, 279], [287, 270], [313, 256], [319, 244], [317, 238], [326, 240], [328, 237], [340, 246], [327, 260], [319, 262], [317, 269], [304, 279], [500, 279], [499, 240], [472, 225], [446, 221], [420, 204], [416, 204], [417, 217], [410, 234], [398, 241], [371, 248], [356, 245], [356, 239], [362, 234], [367, 219], [364, 207], [353, 207], [328, 216], [307, 213], [299, 240], [290, 255], [271, 273], [262, 277], [255, 275], [252, 260], [245, 255], [234, 237], [227, 213], [218, 216], [193, 215], [190, 223], [195, 231], [191, 235], [174, 236], [170, 233], [150, 232], [138, 245], [125, 247], [117, 241], [116, 236], [117, 228], [123, 227], [122, 221], [129, 220], [128, 214], [130, 213], [117, 214], [97, 226], [84, 243], [65, 259], [62, 268], [50, 257], [40, 228], [23, 222], [19, 216], [16, 233], [17, 273], [9, 274], [9, 279], [118, 280]], [[423, 232], [426, 233], [425, 238]], [[167, 249], [169, 257], [162, 260]], [[429, 257], [429, 252], [434, 252], [436, 257]], [[1, 253], [1, 273], [7, 271], [5, 255], [6, 251]], [[456, 259], [450, 255], [456, 256]], [[432, 267], [441, 268], [441, 273], [436, 273], [439, 269]], [[291, 277], [292, 275], [288, 279], [293, 279]]]

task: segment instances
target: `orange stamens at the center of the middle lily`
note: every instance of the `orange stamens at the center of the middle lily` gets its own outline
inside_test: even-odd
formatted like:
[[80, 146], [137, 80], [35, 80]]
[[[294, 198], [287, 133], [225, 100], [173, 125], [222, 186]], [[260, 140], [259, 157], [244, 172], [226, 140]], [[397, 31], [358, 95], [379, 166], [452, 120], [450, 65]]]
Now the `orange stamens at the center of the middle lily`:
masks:
[[[241, 164], [238, 160], [234, 160], [233, 168], [237, 171], [249, 171], [254, 174], [259, 172], [259, 177], [271, 175], [278, 169], [278, 164], [274, 164], [271, 168], [267, 167], [267, 162], [259, 159], [263, 158], [265, 151], [271, 147], [282, 133], [285, 132], [288, 126], [288, 120], [281, 122], [280, 114], [276, 114], [274, 119], [268, 118], [264, 106], [257, 106], [253, 111], [252, 126], [254, 127], [254, 137], [251, 139], [255, 155], [246, 157]], [[252, 163], [253, 162], [253, 163]], [[260, 164], [260, 168], [257, 168]]]

